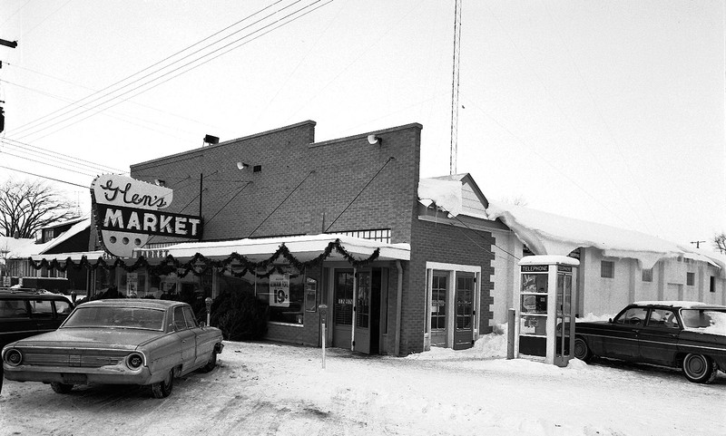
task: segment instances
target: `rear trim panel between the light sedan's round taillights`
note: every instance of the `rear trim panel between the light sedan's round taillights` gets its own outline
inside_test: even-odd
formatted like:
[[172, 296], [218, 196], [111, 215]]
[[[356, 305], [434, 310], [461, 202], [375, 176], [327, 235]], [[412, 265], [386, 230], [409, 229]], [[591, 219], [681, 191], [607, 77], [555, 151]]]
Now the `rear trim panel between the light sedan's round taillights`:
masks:
[[114, 352], [104, 350], [103, 352], [83, 353], [77, 350], [21, 350], [23, 363], [38, 366], [71, 366], [79, 368], [100, 368], [106, 365], [122, 363], [128, 352]]

